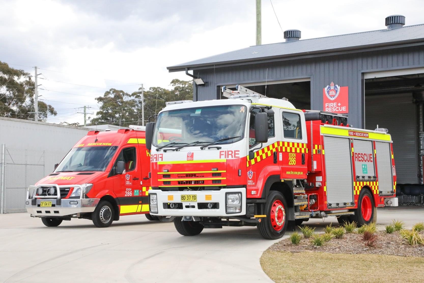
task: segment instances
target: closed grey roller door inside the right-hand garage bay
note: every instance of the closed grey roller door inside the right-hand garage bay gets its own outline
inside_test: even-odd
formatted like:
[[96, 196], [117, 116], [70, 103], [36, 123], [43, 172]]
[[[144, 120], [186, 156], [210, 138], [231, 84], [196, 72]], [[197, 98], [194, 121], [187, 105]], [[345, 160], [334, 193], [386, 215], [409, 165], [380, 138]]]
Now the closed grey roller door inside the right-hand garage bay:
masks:
[[[365, 95], [365, 129], [389, 130], [397, 183], [418, 183], [417, 113], [412, 94]], [[378, 164], [377, 164], [378, 166]]]

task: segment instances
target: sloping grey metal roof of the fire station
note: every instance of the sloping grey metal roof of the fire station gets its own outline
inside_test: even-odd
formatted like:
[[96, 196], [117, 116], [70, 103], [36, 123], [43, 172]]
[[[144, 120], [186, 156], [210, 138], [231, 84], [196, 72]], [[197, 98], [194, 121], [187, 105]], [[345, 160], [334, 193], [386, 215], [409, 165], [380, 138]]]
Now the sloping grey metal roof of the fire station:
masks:
[[293, 42], [254, 45], [248, 48], [170, 66], [167, 67], [167, 69], [170, 72], [176, 72], [183, 71], [185, 68], [252, 62], [415, 42], [424, 42], [424, 24], [378, 31], [366, 31], [356, 34], [303, 39]]

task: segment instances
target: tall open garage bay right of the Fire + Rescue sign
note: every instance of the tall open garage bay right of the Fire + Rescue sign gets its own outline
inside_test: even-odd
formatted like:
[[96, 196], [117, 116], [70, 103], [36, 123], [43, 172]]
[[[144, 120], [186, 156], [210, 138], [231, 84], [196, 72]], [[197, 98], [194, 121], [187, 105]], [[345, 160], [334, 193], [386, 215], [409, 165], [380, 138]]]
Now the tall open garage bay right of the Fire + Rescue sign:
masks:
[[424, 73], [365, 79], [365, 129], [386, 128], [398, 184], [422, 184]]

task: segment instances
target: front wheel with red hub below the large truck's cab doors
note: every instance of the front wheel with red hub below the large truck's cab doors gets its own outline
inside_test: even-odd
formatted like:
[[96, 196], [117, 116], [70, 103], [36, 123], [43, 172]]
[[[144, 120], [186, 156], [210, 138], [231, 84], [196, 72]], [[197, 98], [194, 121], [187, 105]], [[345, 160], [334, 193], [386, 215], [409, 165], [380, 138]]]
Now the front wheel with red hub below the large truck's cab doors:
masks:
[[275, 240], [284, 235], [288, 225], [287, 208], [287, 202], [283, 194], [278, 191], [270, 191], [268, 200], [265, 203], [264, 214], [266, 214], [266, 217], [257, 224], [262, 237]]

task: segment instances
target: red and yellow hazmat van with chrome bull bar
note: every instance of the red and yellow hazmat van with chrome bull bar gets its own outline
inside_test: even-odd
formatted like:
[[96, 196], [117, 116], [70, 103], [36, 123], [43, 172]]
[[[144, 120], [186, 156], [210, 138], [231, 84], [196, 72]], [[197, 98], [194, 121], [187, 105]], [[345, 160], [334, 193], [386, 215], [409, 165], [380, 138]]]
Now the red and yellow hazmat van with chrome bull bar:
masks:
[[145, 214], [149, 220], [150, 153], [145, 127], [89, 131], [53, 173], [27, 191], [25, 207], [47, 227], [63, 220], [90, 219], [109, 227], [120, 216]]

